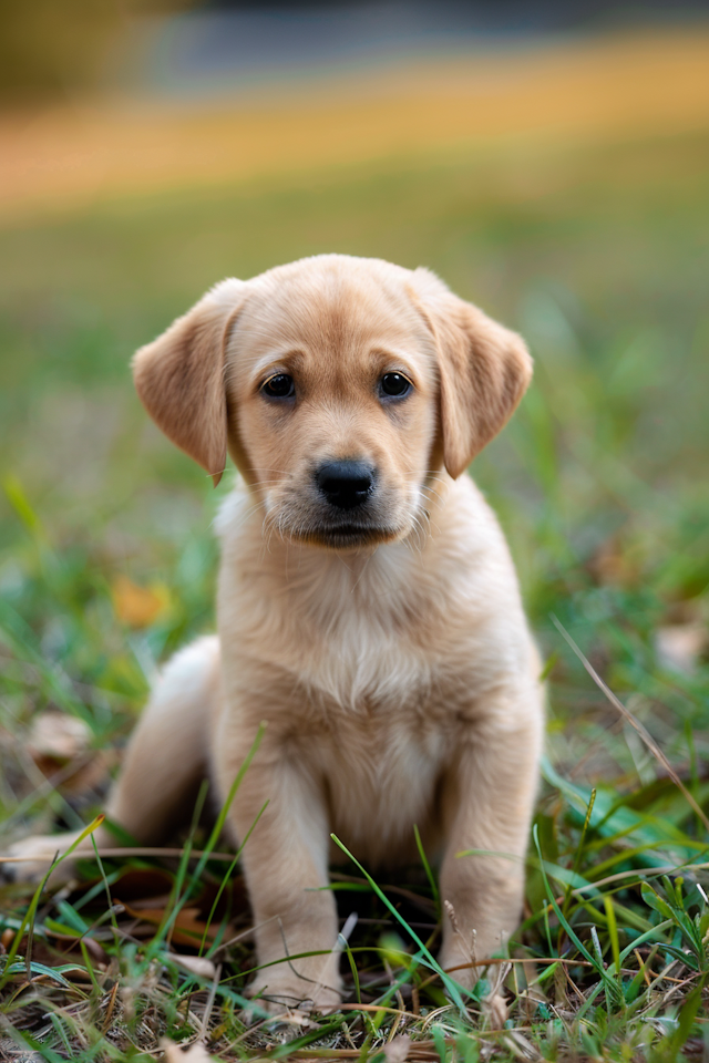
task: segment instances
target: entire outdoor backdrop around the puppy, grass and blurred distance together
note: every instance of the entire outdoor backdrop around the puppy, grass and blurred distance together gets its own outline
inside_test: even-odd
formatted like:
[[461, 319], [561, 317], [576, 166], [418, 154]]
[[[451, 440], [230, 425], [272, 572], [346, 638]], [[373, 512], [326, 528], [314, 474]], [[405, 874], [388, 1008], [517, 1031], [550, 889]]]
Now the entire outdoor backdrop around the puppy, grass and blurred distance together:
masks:
[[134, 857], [29, 916], [31, 890], [0, 885], [0, 1059], [147, 1060], [165, 1034], [223, 1059], [706, 1059], [705, 9], [20, 7], [0, 56], [2, 849], [91, 819], [156, 668], [213, 629], [232, 477], [214, 492], [148, 421], [133, 350], [220, 278], [305, 255], [429, 266], [526, 337], [534, 383], [472, 472], [549, 721], [504, 1030], [432, 978], [421, 869], [388, 894], [409, 929], [340, 869], [350, 1010], [286, 1043], [239, 1020], [238, 876], [214, 907], [227, 865]]

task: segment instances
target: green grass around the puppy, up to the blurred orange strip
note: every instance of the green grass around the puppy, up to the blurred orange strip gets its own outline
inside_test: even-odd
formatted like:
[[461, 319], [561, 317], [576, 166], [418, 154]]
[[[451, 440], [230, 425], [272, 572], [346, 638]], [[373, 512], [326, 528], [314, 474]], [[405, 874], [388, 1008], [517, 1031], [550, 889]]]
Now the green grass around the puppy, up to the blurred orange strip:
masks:
[[[86, 772], [130, 733], [156, 664], [213, 625], [209, 524], [228, 485], [213, 493], [160, 436], [126, 367], [226, 275], [326, 250], [422, 264], [525, 334], [535, 382], [473, 474], [510, 537], [549, 687], [525, 918], [499, 967], [505, 1030], [491, 1031], [475, 1001], [462, 1015], [427, 966], [438, 899], [422, 863], [377, 889], [354, 865], [340, 869], [342, 918], [360, 915], [341, 1015], [289, 1044], [266, 1025], [246, 1031], [251, 946], [222, 948], [249, 926], [243, 885], [236, 875], [222, 889], [228, 864], [196, 828], [193, 847], [209, 853], [198, 880], [186, 857], [134, 857], [35, 901], [0, 886], [11, 953], [0, 1056], [14, 1038], [48, 1061], [147, 1060], [163, 1034], [207, 1031], [234, 1060], [383, 1059], [401, 1032], [412, 1060], [706, 1057], [709, 877], [687, 865], [709, 861], [709, 838], [687, 792], [709, 808], [707, 647], [681, 672], [657, 639], [709, 621], [708, 164], [708, 136], [525, 140], [428, 166], [116, 200], [0, 231], [8, 838], [90, 822], [106, 771]], [[148, 627], [116, 616], [119, 577], [162, 588], [167, 605]], [[56, 762], [59, 785], [42, 784], [29, 752], [32, 721], [52, 706], [89, 736], [84, 774]], [[150, 902], [161, 929], [144, 933], [130, 911]], [[30, 906], [31, 952], [13, 935]], [[196, 953], [204, 938], [217, 978], [175, 962], [171, 927], [182, 927], [173, 950]]]

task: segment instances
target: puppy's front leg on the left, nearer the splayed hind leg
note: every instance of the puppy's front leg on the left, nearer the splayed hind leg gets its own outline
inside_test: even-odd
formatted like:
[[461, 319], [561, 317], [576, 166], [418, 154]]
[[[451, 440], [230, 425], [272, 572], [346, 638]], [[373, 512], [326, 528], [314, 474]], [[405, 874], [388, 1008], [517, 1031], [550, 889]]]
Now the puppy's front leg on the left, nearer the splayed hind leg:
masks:
[[[274, 1013], [284, 1009], [331, 1011], [341, 999], [338, 923], [328, 886], [329, 835], [320, 787], [301, 757], [288, 753], [268, 729], [246, 772], [229, 818], [244, 839], [266, 802], [242, 857], [248, 888], [259, 971], [249, 994]], [[248, 746], [225, 722], [217, 734], [215, 767], [223, 795]], [[245, 736], [253, 740], [254, 735]], [[326, 888], [323, 888], [326, 887]], [[302, 959], [304, 952], [321, 954]], [[274, 962], [276, 961], [276, 962]], [[273, 967], [265, 964], [274, 963]]]

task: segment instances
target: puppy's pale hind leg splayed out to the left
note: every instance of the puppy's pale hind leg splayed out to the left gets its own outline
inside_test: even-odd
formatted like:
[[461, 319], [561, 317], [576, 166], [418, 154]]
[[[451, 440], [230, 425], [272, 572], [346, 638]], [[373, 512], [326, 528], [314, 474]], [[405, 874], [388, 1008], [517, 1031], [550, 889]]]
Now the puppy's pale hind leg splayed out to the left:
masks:
[[[199, 639], [167, 663], [133, 732], [119, 778], [113, 785], [106, 815], [141, 845], [161, 842], [188, 811], [202, 778], [207, 774], [212, 722], [219, 698], [219, 642], [216, 636]], [[18, 879], [38, 879], [55, 853], [66, 852], [81, 830], [29, 837], [8, 853], [21, 861], [2, 865]], [[105, 827], [93, 838], [99, 846], [114, 846]], [[76, 855], [93, 852], [85, 838]], [[73, 875], [71, 860], [52, 874], [52, 881]]]

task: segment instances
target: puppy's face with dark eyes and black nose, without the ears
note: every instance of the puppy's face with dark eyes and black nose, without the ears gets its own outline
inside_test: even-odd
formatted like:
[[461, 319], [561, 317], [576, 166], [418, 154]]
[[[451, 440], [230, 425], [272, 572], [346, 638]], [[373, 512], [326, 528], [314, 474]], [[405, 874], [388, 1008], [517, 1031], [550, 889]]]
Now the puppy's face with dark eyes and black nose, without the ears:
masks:
[[436, 427], [431, 332], [387, 270], [275, 271], [226, 351], [230, 434], [267, 525], [354, 548], [409, 535]]

